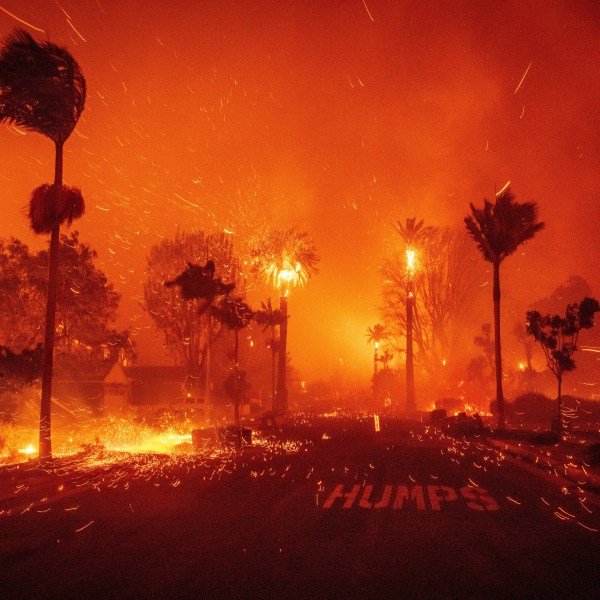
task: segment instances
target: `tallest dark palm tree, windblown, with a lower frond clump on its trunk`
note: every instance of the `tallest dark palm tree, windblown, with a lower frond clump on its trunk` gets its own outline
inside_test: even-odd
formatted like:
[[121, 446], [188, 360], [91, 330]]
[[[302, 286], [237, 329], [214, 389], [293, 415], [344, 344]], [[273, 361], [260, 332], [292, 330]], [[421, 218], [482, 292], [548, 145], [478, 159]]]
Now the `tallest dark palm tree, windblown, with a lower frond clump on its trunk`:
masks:
[[75, 59], [50, 42], [38, 44], [16, 30], [0, 48], [0, 122], [41, 133], [54, 142], [54, 183], [33, 191], [29, 206], [32, 229], [50, 233], [48, 299], [40, 402], [40, 460], [52, 458], [50, 408], [60, 226], [81, 217], [81, 191], [63, 185], [63, 146], [83, 111], [86, 83]]

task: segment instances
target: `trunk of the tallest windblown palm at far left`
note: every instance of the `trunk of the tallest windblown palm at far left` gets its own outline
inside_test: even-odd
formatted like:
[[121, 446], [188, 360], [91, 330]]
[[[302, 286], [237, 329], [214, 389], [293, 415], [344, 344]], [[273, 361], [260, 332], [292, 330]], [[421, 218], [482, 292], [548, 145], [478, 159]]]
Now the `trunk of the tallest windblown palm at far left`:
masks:
[[[55, 144], [54, 184], [62, 186], [63, 147]], [[44, 334], [44, 365], [40, 400], [40, 461], [52, 458], [52, 371], [54, 368], [54, 334], [56, 330], [56, 293], [60, 254], [60, 223], [52, 228], [48, 256], [48, 296], [46, 299], [46, 330]]]

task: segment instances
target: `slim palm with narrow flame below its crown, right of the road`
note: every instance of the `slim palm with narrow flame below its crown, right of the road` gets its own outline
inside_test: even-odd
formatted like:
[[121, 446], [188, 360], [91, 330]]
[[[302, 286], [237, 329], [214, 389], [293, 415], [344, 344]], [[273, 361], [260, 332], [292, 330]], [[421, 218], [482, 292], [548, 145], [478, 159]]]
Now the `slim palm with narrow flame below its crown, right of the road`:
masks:
[[415, 252], [433, 232], [433, 227], [423, 227], [423, 220], [406, 219], [403, 226], [400, 221], [396, 231], [406, 244], [406, 412], [416, 410], [415, 400], [415, 364], [413, 357], [413, 317], [415, 305]]

